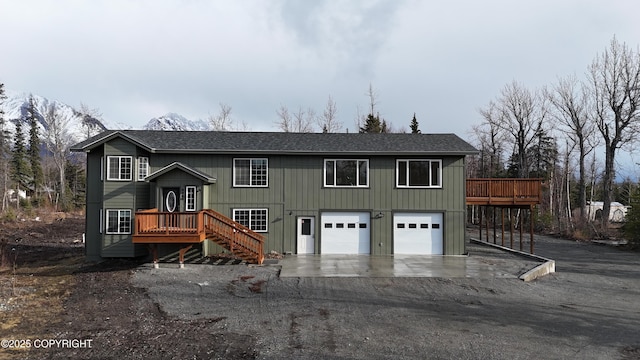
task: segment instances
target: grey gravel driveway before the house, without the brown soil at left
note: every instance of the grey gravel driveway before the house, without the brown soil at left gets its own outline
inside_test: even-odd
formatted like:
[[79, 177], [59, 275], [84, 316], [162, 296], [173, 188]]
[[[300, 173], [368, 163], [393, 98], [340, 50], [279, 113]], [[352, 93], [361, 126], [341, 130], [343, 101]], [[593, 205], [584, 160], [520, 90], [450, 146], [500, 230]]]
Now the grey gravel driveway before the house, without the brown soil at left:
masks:
[[[531, 265], [468, 247], [515, 276]], [[248, 341], [259, 359], [640, 358], [640, 254], [543, 236], [536, 250], [557, 272], [533, 282], [187, 265], [143, 266], [133, 283], [170, 317], [214, 319], [209, 331]]]

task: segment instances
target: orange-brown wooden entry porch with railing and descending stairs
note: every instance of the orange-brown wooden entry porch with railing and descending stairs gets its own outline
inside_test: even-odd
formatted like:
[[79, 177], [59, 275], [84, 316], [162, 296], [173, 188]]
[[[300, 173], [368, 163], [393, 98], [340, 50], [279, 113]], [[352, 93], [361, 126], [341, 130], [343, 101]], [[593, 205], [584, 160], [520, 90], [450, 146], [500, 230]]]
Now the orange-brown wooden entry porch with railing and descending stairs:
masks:
[[193, 244], [211, 240], [237, 257], [254, 264], [264, 261], [264, 236], [211, 209], [199, 212], [160, 212], [149, 209], [135, 213], [132, 241], [147, 244], [158, 263], [158, 244], [183, 244], [180, 248], [180, 264], [184, 253]]

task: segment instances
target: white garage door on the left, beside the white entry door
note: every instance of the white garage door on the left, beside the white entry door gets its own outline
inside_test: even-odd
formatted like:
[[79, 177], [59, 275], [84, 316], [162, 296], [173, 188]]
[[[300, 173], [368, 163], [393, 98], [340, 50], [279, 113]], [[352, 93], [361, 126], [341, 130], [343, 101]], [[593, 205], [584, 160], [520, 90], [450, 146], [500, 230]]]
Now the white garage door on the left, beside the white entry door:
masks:
[[371, 214], [325, 212], [320, 216], [321, 254], [370, 254]]

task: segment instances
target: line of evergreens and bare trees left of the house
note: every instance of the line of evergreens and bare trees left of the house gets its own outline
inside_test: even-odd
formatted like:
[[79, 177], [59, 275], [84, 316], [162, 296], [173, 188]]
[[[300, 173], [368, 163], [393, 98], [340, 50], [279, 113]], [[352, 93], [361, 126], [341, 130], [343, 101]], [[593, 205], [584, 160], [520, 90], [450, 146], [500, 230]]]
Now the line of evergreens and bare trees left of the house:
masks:
[[[40, 113], [31, 95], [22, 118], [14, 120], [15, 131], [11, 134], [3, 108], [6, 98], [4, 84], [0, 83], [0, 211], [83, 207], [84, 159], [69, 154], [73, 140], [67, 130], [68, 120], [58, 114], [55, 104]], [[40, 133], [41, 122], [46, 124], [44, 134]]]

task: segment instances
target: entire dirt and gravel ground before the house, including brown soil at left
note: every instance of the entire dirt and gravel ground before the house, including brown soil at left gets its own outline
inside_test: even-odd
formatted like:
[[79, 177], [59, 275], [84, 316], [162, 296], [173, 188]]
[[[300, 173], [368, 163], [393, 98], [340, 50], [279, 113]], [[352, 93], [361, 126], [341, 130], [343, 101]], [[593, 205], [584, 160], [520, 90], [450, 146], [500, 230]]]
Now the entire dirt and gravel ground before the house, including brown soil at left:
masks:
[[[37, 324], [23, 319], [3, 327], [0, 338], [89, 339], [91, 348], [0, 349], [0, 358], [640, 358], [640, 254], [536, 241], [540, 255], [557, 261], [557, 273], [529, 283], [280, 278], [274, 266], [180, 270], [135, 261], [81, 265], [62, 275], [35, 272], [32, 278], [72, 284], [69, 293], [59, 295], [60, 309], [50, 307], [52, 316], [43, 312]], [[508, 271], [526, 268], [513, 255], [476, 251]], [[0, 311], [3, 319], [7, 314]], [[21, 330], [29, 321], [37, 331]]]

